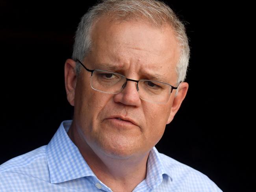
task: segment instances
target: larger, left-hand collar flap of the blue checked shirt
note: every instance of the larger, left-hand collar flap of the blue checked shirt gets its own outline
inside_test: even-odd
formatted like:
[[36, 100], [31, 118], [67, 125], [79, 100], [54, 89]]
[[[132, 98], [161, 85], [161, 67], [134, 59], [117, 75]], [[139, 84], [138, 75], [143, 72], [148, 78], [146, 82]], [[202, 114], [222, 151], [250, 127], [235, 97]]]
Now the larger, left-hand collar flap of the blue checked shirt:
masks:
[[95, 176], [76, 145], [67, 135], [71, 122], [72, 120], [63, 121], [50, 143], [46, 146], [51, 183], [61, 183], [80, 177]]

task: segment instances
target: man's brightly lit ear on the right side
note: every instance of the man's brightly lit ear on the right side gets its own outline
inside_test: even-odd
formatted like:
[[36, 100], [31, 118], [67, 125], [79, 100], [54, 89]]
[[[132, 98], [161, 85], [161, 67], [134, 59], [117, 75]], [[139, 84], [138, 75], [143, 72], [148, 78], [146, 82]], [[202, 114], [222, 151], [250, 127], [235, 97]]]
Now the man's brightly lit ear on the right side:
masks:
[[[167, 124], [169, 124], [173, 120], [174, 115], [180, 109], [180, 105], [181, 105], [182, 101], [184, 100], [184, 98], [186, 97], [187, 89], [188, 89], [188, 83], [186, 83], [186, 82], [180, 83], [180, 85], [178, 87], [178, 94], [173, 99], [173, 105], [171, 107], [171, 113], [168, 118]], [[172, 94], [175, 94], [175, 92], [172, 92]]]

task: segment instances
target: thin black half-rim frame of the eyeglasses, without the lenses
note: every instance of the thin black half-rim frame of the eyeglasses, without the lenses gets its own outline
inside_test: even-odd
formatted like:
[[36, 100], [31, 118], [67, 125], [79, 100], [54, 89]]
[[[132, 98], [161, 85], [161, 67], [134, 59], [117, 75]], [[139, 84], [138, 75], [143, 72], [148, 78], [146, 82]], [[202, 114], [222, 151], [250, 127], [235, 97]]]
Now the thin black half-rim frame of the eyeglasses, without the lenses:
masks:
[[[83, 63], [82, 63], [79, 59], [76, 59], [76, 62], [79, 62], [79, 63], [83, 66], [83, 68], [85, 68], [85, 70], [87, 70], [88, 72], [91, 72], [91, 76], [93, 76], [93, 72], [94, 72], [94, 71], [103, 71], [103, 72], [109, 72], [109, 73], [117, 74], [117, 75], [120, 75], [120, 76], [124, 77], [124, 78], [126, 79], [126, 82], [124, 83], [124, 85], [122, 85], [122, 89], [125, 88], [127, 81], [133, 81], [133, 82], [136, 82], [136, 83], [137, 83], [136, 88], [137, 88], [137, 91], [139, 91], [139, 86], [138, 86], [139, 81], [150, 81], [150, 79], [139, 79], [139, 80], [128, 79], [128, 78], [126, 78], [126, 76], [123, 76], [123, 75], [121, 75], [121, 74], [119, 74], [119, 73], [107, 71], [107, 70], [101, 70], [101, 69], [94, 69], [94, 70], [91, 70], [91, 69], [88, 69], [85, 65], [83, 65]], [[154, 82], [154, 80], [151, 80], [151, 81]], [[174, 86], [170, 85], [169, 83], [165, 83], [165, 82], [161, 82], [161, 81], [155, 81], [155, 82], [164, 83], [164, 84], [166, 84], [166, 85], [169, 85], [169, 86], [171, 87], [171, 92], [170, 92], [170, 94], [171, 94], [171, 93], [173, 92], [173, 89], [178, 89], [178, 86], [180, 85], [180, 83], [181, 83], [182, 81], [180, 81], [180, 83], [178, 84], [177, 87], [174, 87]], [[92, 87], [92, 88], [93, 88], [93, 87]], [[97, 90], [97, 89], [94, 89], [94, 90]], [[97, 91], [100, 91], [100, 90], [97, 90]], [[104, 91], [100, 91], [100, 92], [104, 92]], [[104, 93], [108, 93], [108, 92], [104, 92]], [[111, 94], [111, 93], [108, 93], [108, 94]], [[115, 94], [115, 93], [112, 93], [112, 94]], [[144, 100], [144, 99], [143, 99], [143, 100]], [[150, 102], [151, 102], [151, 101], [150, 101]]]

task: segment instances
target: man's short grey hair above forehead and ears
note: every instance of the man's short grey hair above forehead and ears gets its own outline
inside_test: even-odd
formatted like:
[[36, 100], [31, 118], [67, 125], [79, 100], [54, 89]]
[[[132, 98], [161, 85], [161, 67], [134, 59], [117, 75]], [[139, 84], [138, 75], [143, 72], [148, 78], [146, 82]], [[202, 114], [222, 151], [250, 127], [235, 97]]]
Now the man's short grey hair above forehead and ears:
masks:
[[[180, 46], [180, 58], [176, 65], [177, 84], [186, 78], [189, 63], [189, 44], [184, 24], [178, 19], [173, 10], [158, 0], [102, 0], [91, 7], [81, 18], [76, 31], [72, 59], [83, 61], [91, 51], [92, 26], [102, 16], [107, 15], [113, 20], [145, 20], [154, 26], [162, 27], [169, 24], [175, 31]], [[76, 65], [76, 74], [80, 65]]]

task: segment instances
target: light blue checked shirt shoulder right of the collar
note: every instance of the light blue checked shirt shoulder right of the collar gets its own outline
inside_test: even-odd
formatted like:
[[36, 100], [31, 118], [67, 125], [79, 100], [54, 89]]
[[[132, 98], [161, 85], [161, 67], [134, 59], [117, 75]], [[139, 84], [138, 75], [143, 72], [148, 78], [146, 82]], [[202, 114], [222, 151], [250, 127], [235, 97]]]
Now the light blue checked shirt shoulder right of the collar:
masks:
[[182, 192], [221, 192], [209, 177], [201, 172], [160, 153], [166, 173], [171, 177], [173, 190]]

